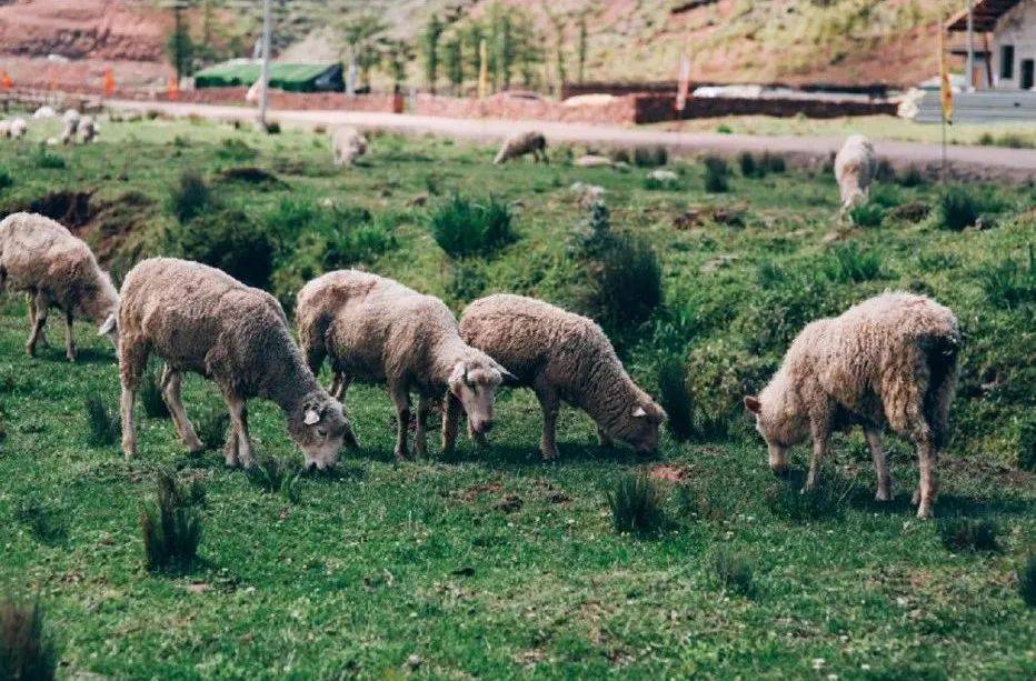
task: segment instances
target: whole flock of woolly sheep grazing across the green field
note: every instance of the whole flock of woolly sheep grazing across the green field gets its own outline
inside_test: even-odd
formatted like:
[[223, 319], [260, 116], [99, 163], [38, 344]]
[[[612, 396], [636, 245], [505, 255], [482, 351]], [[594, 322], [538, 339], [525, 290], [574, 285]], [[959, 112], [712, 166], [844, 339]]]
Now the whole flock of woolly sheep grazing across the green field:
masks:
[[[92, 120], [64, 117], [64, 134], [93, 139]], [[336, 163], [367, 150], [351, 129], [332, 134]], [[505, 141], [495, 162], [524, 154], [546, 160], [540, 133]], [[875, 170], [874, 147], [858, 136], [835, 169], [845, 207], [866, 196]], [[230, 412], [227, 465], [255, 463], [246, 403], [262, 398], [285, 413], [288, 434], [307, 468], [326, 469], [342, 445], [358, 448], [342, 407], [353, 380], [385, 384], [396, 409], [397, 460], [408, 457], [411, 395], [417, 394], [414, 449], [426, 455], [426, 421], [442, 404], [442, 449], [455, 447], [460, 420], [488, 444], [500, 385], [530, 389], [542, 409], [539, 449], [558, 455], [556, 425], [562, 402], [586, 412], [602, 445], [616, 441], [637, 452], [657, 450], [665, 410], [640, 389], [611, 342], [592, 320], [512, 294], [471, 302], [460, 321], [439, 299], [399, 282], [356, 270], [328, 272], [307, 283], [296, 306], [299, 343], [278, 301], [220, 270], [173, 258], [151, 258], [126, 277], [121, 291], [89, 247], [49, 218], [16, 213], [0, 221], [0, 291], [29, 297], [32, 354], [43, 339], [51, 307], [64, 314], [67, 357], [74, 361], [72, 320], [87, 317], [118, 350], [122, 450], [137, 453], [133, 404], [151, 353], [165, 362], [160, 390], [179, 437], [202, 449], [181, 399], [187, 371], [212, 380]], [[889, 474], [880, 431], [888, 427], [916, 448], [919, 517], [932, 513], [937, 453], [946, 441], [956, 385], [960, 331], [947, 308], [923, 296], [888, 292], [831, 319], [808, 324], [758, 395], [745, 398], [766, 441], [769, 464], [787, 469], [787, 450], [809, 437], [811, 490], [830, 434], [861, 425], [877, 473], [877, 499], [888, 500]], [[332, 383], [317, 380], [325, 361]]]

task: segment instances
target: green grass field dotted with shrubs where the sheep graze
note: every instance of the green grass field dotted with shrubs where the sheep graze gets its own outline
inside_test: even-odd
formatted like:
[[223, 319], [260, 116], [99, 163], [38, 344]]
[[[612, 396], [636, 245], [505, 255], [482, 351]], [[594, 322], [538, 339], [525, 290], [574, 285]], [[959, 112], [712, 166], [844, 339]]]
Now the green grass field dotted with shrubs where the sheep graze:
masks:
[[[226, 469], [219, 451], [187, 454], [171, 422], [146, 418], [139, 402], [138, 459], [91, 447], [84, 400], [118, 400], [111, 347], [78, 323], [80, 361], [70, 365], [54, 313], [53, 347], [29, 359], [24, 303], [8, 293], [0, 595], [40, 599], [61, 645], [59, 675], [1036, 674], [1036, 617], [1016, 574], [1036, 548], [1032, 187], [973, 188], [995, 213], [984, 219], [993, 227], [950, 231], [935, 217], [897, 212], [935, 206], [939, 188], [887, 181], [875, 189], [880, 223], [839, 229], [834, 179], [804, 171], [744, 178], [735, 168], [730, 191], [707, 193], [701, 166], [680, 162], [670, 164], [676, 187], [648, 189], [646, 169], [576, 169], [560, 150], [549, 167], [496, 168], [491, 149], [380, 136], [361, 167], [339, 172], [321, 136], [162, 120], [108, 123], [97, 144], [50, 150], [63, 159], [57, 168], [36, 146], [51, 133], [33, 129], [26, 143], [0, 144], [10, 178], [0, 214], [60, 209], [54, 192], [88, 192], [86, 208], [64, 214], [118, 276], [135, 259], [186, 248], [179, 234], [188, 228], [167, 200], [192, 169], [225, 211], [272, 234], [270, 286], [285, 300], [327, 252], [307, 226], [291, 232], [277, 222], [299, 206], [326, 221], [330, 200], [367, 209], [370, 229], [388, 234], [352, 260], [442, 297], [458, 313], [494, 291], [582, 309], [595, 273], [571, 253], [587, 218], [569, 186], [601, 184], [612, 229], [658, 253], [665, 293], [646, 322], [616, 328], [614, 339], [653, 394], [663, 358], [687, 368], [697, 424], [690, 442], [666, 433], [657, 457], [639, 459], [599, 448], [592, 423], [565, 410], [560, 459], [544, 463], [535, 399], [505, 390], [490, 449], [464, 441], [448, 458], [396, 464], [389, 399], [357, 387], [347, 407], [362, 449], [331, 475], [302, 478], [291, 501]], [[219, 180], [241, 167], [279, 183]], [[455, 190], [514, 202], [517, 239], [489, 254], [447, 257], [427, 214]], [[689, 208], [706, 217], [677, 228]], [[717, 208], [726, 213], [709, 218]], [[829, 494], [808, 507], [793, 487], [800, 474], [786, 482], [769, 472], [739, 408], [803, 323], [891, 288], [950, 306], [967, 343], [932, 521], [909, 505], [917, 471], [906, 443], [888, 438], [895, 500], [880, 504], [861, 435], [836, 438], [821, 482]], [[192, 417], [220, 405], [198, 377], [188, 379], [185, 402]], [[260, 455], [301, 463], [276, 408], [256, 401], [250, 415]], [[795, 451], [797, 471], [806, 453]], [[660, 465], [678, 478], [658, 483], [664, 531], [616, 533], [606, 493], [622, 474]], [[206, 490], [201, 563], [186, 574], [143, 565], [138, 517], [160, 469]], [[33, 527], [41, 515], [49, 521]], [[955, 515], [995, 522], [998, 550], [944, 547], [938, 519]], [[746, 561], [750, 588], [718, 575], [717, 559], [730, 553]]]

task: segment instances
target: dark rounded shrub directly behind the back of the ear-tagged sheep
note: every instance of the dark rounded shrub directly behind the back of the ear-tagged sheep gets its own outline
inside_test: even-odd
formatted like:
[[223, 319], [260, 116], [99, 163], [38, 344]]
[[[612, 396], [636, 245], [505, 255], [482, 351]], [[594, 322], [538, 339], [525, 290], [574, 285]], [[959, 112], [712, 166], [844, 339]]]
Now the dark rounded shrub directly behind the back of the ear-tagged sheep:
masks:
[[177, 231], [172, 241], [188, 260], [219, 268], [250, 287], [265, 289], [270, 283], [277, 243], [241, 210], [199, 216]]

